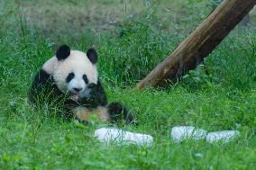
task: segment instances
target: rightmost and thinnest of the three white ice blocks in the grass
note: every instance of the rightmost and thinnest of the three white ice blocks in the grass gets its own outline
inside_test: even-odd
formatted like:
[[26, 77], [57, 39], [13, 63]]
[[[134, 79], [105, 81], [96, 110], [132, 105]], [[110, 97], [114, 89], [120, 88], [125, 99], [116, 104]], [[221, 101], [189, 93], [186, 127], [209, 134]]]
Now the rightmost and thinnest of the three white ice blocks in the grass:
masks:
[[239, 136], [238, 130], [224, 130], [224, 131], [215, 131], [208, 133], [206, 137], [207, 142], [217, 142], [223, 141], [224, 143], [229, 142], [231, 139], [234, 139]]

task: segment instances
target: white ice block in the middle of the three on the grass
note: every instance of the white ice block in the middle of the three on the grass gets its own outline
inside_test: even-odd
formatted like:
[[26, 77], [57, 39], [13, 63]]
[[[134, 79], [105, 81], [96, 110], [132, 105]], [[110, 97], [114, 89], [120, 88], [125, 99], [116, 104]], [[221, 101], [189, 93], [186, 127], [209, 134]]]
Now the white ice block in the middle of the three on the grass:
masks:
[[193, 126], [176, 126], [171, 130], [171, 138], [175, 142], [182, 142], [186, 139], [206, 139], [207, 131], [196, 129]]

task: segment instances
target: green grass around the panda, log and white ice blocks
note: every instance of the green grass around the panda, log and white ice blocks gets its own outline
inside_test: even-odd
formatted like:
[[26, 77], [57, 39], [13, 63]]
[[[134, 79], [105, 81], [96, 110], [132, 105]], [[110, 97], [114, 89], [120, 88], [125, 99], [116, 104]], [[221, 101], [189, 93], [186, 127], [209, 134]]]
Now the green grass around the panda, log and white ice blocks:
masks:
[[[166, 24], [161, 19], [169, 15], [154, 13], [147, 18], [149, 13], [143, 12], [141, 4], [142, 8], [133, 9], [141, 14], [132, 20], [116, 12], [121, 18], [121, 26], [81, 32], [79, 39], [70, 33], [71, 29], [66, 32], [66, 37], [59, 39], [62, 28], [48, 36], [43, 28], [36, 24], [33, 27], [28, 18], [23, 18], [25, 7], [15, 8], [10, 2], [0, 1], [0, 6], [3, 4], [0, 7], [0, 169], [255, 168], [254, 31], [235, 29], [204, 65], [191, 71], [178, 84], [164, 90], [137, 91], [133, 87], [138, 80], [186, 37], [187, 31], [182, 25], [187, 19], [178, 16], [183, 21], [176, 25], [180, 31], [169, 31], [160, 27], [164, 25], [162, 22]], [[73, 1], [67, 1], [68, 4], [58, 2], [68, 5]], [[23, 5], [31, 3], [34, 1], [23, 1]], [[98, 6], [112, 6], [114, 0], [105, 3], [96, 1]], [[197, 7], [198, 4], [193, 5]], [[150, 9], [153, 12], [155, 8]], [[157, 9], [159, 11], [161, 7]], [[196, 13], [190, 18], [191, 25], [197, 25], [197, 11], [191, 9], [191, 13]], [[92, 22], [91, 26], [97, 24], [100, 23]], [[122, 31], [124, 34], [119, 37]], [[109, 100], [125, 103], [138, 121], [137, 127], [125, 126], [123, 129], [153, 136], [151, 148], [105, 145], [94, 139], [93, 133], [96, 128], [108, 125], [94, 122], [81, 127], [54, 117], [55, 113], [47, 108], [32, 109], [27, 99], [32, 77], [54, 54], [52, 49], [59, 42], [69, 43], [73, 49], [96, 47], [100, 57], [98, 68]], [[208, 131], [239, 130], [241, 136], [228, 144], [205, 141], [176, 144], [170, 138], [170, 130], [178, 125]], [[198, 153], [202, 157], [198, 157]]]

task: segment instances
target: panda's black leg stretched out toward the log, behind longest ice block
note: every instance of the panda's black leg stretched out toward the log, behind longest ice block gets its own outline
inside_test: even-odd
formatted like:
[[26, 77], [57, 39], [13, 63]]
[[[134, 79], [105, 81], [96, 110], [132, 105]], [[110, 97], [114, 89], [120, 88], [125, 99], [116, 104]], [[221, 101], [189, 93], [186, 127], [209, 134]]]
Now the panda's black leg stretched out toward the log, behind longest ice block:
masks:
[[107, 111], [112, 123], [125, 121], [126, 124], [134, 123], [134, 118], [131, 112], [129, 112], [121, 103], [109, 103], [107, 105]]

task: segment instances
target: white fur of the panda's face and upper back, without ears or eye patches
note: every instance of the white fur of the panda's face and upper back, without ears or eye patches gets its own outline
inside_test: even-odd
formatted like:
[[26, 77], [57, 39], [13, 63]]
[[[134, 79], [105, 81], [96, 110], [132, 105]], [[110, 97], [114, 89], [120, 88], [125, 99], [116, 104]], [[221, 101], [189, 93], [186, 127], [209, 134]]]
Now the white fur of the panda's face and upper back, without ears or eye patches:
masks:
[[[97, 82], [96, 65], [92, 64], [87, 58], [87, 54], [82, 51], [70, 50], [69, 58], [64, 60], [58, 60], [54, 56], [42, 68], [53, 77], [59, 90], [64, 94], [69, 92], [76, 94], [73, 88], [79, 88], [81, 91], [86, 90], [87, 84], [83, 80], [83, 75], [87, 75], [89, 83], [96, 84]], [[67, 83], [66, 78], [69, 73], [74, 73], [75, 77]]]

